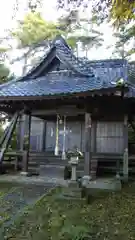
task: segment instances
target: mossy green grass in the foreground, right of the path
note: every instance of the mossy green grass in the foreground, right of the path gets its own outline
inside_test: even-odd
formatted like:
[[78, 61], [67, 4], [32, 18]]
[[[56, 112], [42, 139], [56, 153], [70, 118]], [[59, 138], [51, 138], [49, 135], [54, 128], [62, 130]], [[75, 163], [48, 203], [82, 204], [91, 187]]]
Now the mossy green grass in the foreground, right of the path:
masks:
[[63, 189], [43, 197], [7, 229], [10, 240], [135, 239], [135, 184], [122, 192], [97, 194], [91, 204], [58, 199]]

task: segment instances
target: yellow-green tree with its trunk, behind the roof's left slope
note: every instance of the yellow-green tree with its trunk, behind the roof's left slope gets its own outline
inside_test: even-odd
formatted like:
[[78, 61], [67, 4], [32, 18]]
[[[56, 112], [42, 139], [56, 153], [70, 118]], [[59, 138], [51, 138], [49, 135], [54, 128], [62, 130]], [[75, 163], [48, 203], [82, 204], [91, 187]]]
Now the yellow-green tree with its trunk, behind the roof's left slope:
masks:
[[27, 71], [28, 59], [41, 50], [49, 47], [50, 41], [59, 34], [64, 34], [58, 24], [45, 21], [39, 12], [28, 13], [23, 21], [18, 23], [18, 28], [11, 35], [17, 40], [18, 49], [23, 49], [24, 54], [17, 60], [24, 59], [23, 74]]

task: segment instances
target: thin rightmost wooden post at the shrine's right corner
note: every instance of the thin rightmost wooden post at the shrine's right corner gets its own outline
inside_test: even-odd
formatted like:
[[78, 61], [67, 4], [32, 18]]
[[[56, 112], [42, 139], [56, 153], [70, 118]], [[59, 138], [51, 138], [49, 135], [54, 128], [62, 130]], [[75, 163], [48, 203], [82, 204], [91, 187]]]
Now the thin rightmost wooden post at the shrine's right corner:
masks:
[[124, 116], [124, 129], [123, 129], [123, 178], [128, 181], [128, 116]]

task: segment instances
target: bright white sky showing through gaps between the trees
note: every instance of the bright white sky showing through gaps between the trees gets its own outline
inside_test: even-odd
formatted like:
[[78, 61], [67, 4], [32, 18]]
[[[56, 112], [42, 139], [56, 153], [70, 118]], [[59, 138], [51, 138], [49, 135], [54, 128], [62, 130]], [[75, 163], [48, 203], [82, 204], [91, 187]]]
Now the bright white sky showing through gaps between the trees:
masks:
[[[13, 6], [16, 0], [1, 0], [1, 8], [0, 8], [0, 37], [2, 37], [7, 29], [16, 26], [16, 21], [12, 20], [14, 15]], [[18, 0], [19, 1], [19, 11], [16, 15], [17, 19], [23, 18], [26, 14], [26, 0]], [[58, 11], [55, 8], [55, 0], [43, 0], [43, 16], [46, 20], [55, 21], [58, 17]], [[114, 46], [115, 39], [113, 37], [112, 28], [108, 24], [103, 24], [100, 26], [99, 30], [104, 34], [104, 45], [100, 48], [93, 48], [89, 51], [88, 58], [93, 59], [108, 59], [112, 58], [112, 47], [107, 48], [108, 46]], [[18, 52], [14, 51], [14, 55], [18, 54]], [[12, 66], [12, 70], [17, 74], [21, 74], [22, 65], [20, 63], [16, 63]]]

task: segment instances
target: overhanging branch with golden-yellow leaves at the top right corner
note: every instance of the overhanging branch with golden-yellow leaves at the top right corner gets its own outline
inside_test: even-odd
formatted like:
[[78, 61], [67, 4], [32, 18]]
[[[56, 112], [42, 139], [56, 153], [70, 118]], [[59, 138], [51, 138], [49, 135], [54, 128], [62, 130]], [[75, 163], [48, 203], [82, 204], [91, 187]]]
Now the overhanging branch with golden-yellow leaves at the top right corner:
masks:
[[92, 4], [93, 14], [98, 21], [108, 18], [118, 26], [121, 22], [135, 19], [134, 0], [57, 0], [58, 7], [66, 6], [67, 9], [67, 5], [87, 8], [89, 4]]

